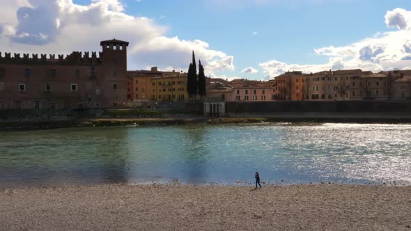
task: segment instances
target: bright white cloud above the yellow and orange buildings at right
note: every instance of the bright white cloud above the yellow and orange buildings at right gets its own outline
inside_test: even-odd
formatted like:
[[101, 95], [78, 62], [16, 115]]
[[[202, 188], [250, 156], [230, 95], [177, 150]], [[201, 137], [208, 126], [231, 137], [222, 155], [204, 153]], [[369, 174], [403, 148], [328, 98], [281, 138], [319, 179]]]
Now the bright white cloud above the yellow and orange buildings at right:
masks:
[[388, 11], [385, 15], [388, 27], [396, 27], [397, 31], [375, 33], [345, 47], [321, 47], [314, 49], [319, 56], [328, 56], [329, 61], [323, 64], [289, 64], [277, 60], [260, 63], [265, 78], [276, 77], [288, 70], [303, 72], [319, 72], [322, 70], [356, 69], [402, 70], [411, 66], [411, 12], [403, 9]]

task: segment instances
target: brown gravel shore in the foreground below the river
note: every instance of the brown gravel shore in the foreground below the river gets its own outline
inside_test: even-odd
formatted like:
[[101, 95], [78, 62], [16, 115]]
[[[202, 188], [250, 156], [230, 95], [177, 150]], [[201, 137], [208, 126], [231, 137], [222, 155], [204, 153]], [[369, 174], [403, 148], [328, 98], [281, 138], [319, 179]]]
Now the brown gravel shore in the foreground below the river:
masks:
[[411, 230], [411, 187], [0, 189], [0, 230]]

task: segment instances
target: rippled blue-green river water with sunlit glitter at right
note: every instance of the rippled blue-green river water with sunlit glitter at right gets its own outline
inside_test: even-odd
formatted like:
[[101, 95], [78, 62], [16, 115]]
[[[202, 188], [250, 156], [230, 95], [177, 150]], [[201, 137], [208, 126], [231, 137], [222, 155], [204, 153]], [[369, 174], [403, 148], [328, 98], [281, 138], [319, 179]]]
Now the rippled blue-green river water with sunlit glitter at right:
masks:
[[270, 124], [0, 133], [0, 186], [169, 182], [411, 184], [411, 125]]

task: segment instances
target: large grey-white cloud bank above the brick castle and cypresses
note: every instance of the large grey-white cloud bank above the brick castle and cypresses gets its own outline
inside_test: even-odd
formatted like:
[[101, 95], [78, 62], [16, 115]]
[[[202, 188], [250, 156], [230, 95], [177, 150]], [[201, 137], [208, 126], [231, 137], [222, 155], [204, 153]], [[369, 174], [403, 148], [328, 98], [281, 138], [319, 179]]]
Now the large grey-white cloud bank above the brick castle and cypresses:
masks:
[[[13, 53], [70, 54], [100, 51], [100, 40], [116, 38], [130, 42], [127, 54], [130, 70], [155, 65], [187, 71], [192, 50], [205, 65], [206, 74], [234, 70], [233, 56], [211, 49], [201, 40], [166, 37], [167, 26], [148, 17], [127, 15], [123, 2], [92, 0], [88, 6], [77, 5], [72, 0], [2, 3], [6, 7], [0, 9], [0, 47]], [[14, 12], [13, 16], [10, 11]]]

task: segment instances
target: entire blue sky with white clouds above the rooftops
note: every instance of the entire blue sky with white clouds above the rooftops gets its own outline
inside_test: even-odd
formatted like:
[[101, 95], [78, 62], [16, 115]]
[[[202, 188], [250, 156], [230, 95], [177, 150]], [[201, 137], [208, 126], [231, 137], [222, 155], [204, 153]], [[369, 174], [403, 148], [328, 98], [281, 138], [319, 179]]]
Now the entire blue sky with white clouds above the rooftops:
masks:
[[287, 71], [411, 69], [410, 0], [0, 0], [0, 52], [100, 51], [127, 69], [273, 79]]

